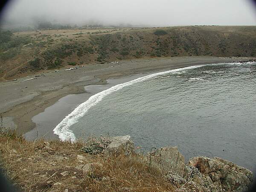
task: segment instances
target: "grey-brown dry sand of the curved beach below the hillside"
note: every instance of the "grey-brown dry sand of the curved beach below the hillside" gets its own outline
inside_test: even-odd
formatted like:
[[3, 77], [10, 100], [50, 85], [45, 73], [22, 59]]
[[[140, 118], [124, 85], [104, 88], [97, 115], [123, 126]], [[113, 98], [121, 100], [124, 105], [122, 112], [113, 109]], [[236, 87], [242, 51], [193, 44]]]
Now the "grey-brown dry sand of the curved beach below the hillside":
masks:
[[[248, 58], [218, 57], [172, 57], [137, 59], [120, 61], [118, 64], [88, 64], [77, 70], [58, 72], [45, 71], [17, 81], [0, 83], [0, 113], [3, 127], [26, 133], [35, 128], [32, 117], [55, 104], [59, 99], [70, 94], [86, 93], [84, 86], [106, 84], [107, 79], [119, 79], [136, 74], [169, 70], [198, 64], [214, 64], [233, 61], [247, 61]], [[45, 76], [41, 76], [44, 74]], [[37, 77], [35, 77], [37, 76]], [[32, 79], [35, 78], [35, 79]], [[29, 81], [24, 81], [32, 79]], [[22, 82], [23, 81], [23, 82]], [[118, 80], [115, 81], [118, 83]], [[100, 89], [98, 90], [100, 91]], [[97, 90], [93, 91], [94, 93]], [[90, 93], [87, 94], [89, 98]]]

